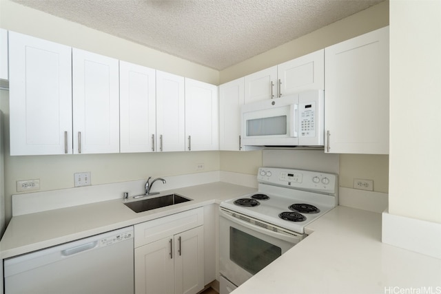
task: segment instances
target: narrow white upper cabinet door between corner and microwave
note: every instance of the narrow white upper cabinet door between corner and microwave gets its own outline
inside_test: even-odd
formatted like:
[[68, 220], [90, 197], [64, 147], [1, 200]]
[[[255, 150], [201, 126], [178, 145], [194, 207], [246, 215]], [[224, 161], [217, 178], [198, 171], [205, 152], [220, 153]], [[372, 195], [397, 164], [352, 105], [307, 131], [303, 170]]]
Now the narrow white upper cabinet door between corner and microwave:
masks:
[[244, 103], [244, 78], [219, 86], [219, 149], [238, 151], [240, 106]]

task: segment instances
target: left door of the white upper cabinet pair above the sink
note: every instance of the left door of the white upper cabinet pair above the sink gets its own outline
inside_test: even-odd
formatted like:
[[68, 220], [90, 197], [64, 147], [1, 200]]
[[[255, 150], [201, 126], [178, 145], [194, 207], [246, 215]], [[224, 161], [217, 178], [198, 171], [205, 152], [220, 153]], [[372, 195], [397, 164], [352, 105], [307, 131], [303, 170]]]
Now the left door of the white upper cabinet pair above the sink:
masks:
[[156, 72], [119, 62], [120, 151], [156, 151]]

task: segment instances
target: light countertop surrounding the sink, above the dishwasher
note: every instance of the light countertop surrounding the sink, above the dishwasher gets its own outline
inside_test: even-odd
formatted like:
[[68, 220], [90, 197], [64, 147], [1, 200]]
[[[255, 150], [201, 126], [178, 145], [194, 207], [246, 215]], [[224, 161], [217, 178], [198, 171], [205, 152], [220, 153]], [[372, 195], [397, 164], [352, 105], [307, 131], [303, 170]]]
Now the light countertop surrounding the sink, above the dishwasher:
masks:
[[118, 199], [14, 216], [0, 242], [0, 258], [10, 258], [207, 204], [220, 203], [254, 191], [256, 189], [250, 187], [213, 182], [162, 191], [158, 196], [178, 193], [192, 201], [141, 213], [135, 213], [123, 204], [122, 199]]

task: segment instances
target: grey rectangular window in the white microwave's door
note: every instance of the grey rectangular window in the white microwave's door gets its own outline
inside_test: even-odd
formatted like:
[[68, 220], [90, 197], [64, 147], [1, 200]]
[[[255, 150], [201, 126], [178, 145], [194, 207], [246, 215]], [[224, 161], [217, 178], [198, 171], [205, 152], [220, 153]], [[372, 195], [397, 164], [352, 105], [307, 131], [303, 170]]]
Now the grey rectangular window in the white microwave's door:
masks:
[[287, 116], [273, 116], [247, 120], [247, 136], [287, 134]]

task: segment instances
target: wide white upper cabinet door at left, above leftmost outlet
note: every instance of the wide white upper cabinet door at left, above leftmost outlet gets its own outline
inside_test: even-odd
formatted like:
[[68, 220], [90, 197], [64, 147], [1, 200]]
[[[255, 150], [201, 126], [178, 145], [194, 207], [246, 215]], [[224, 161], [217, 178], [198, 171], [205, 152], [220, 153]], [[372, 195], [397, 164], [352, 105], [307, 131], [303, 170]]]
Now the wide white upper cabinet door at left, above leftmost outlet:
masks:
[[10, 154], [72, 154], [72, 49], [9, 32]]

